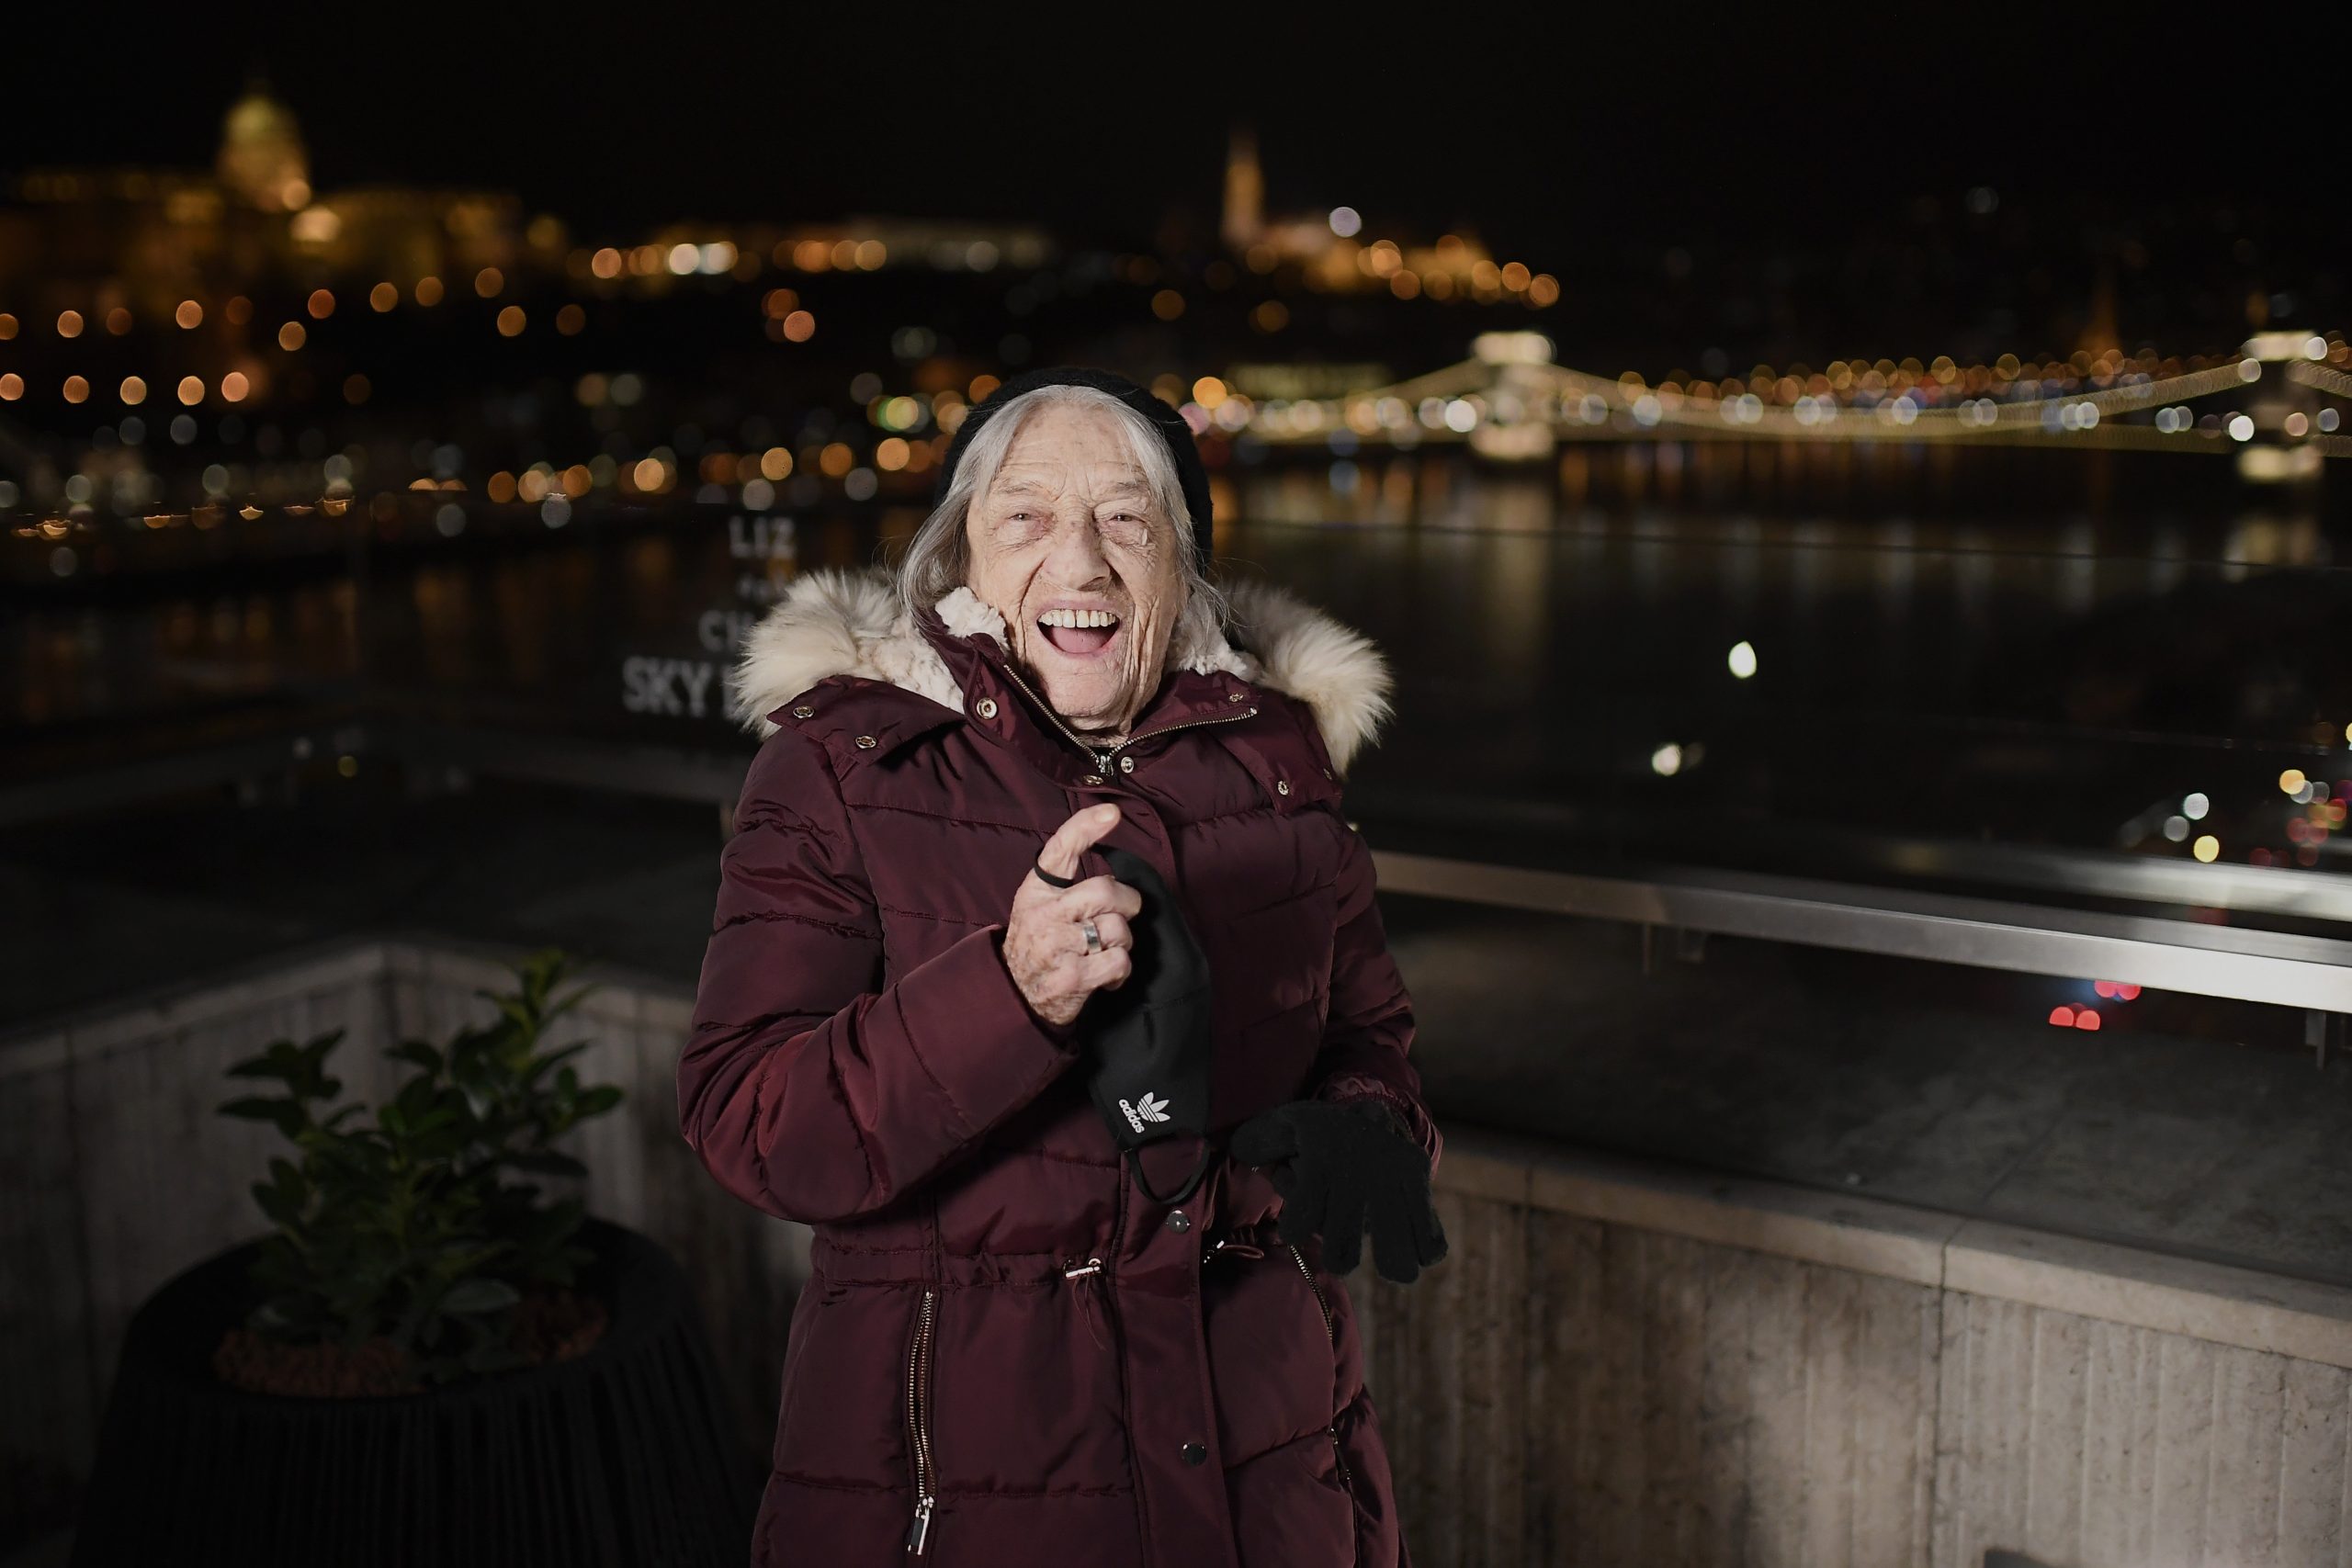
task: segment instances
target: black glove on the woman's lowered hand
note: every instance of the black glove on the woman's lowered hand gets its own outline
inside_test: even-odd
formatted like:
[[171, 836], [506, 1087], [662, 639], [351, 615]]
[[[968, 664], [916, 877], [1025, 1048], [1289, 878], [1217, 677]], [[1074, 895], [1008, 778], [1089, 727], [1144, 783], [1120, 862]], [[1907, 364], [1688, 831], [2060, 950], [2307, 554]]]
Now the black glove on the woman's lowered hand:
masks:
[[1371, 1225], [1374, 1267], [1402, 1286], [1446, 1255], [1446, 1229], [1430, 1199], [1430, 1157], [1378, 1100], [1291, 1100], [1232, 1128], [1228, 1152], [1282, 1194], [1277, 1234], [1298, 1246], [1324, 1241], [1324, 1267], [1362, 1262]]

